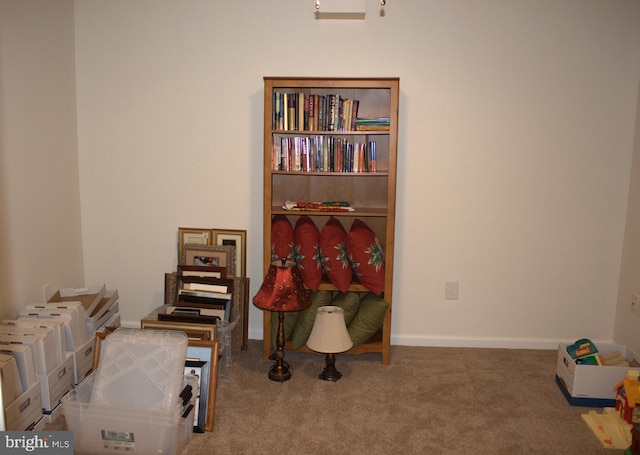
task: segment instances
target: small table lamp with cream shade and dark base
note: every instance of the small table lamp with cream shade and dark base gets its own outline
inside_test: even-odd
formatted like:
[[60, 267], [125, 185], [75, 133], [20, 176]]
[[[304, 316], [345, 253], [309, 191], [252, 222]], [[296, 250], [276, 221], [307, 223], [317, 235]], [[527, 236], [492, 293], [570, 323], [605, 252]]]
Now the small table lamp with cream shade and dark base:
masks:
[[318, 308], [313, 329], [307, 340], [309, 349], [327, 354], [326, 366], [318, 377], [333, 382], [340, 379], [342, 373], [336, 370], [335, 354], [348, 351], [352, 346], [353, 341], [344, 321], [344, 310], [332, 305]]

